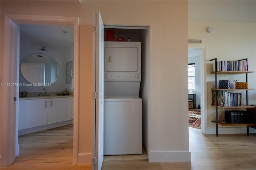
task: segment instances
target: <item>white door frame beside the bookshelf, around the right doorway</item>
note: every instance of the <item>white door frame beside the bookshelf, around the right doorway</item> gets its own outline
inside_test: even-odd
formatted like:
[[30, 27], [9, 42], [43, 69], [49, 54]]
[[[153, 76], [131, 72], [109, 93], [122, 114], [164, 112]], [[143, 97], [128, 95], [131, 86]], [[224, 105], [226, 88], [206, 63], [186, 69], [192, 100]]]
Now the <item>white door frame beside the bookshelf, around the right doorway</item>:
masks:
[[201, 132], [207, 134], [207, 83], [206, 83], [206, 46], [205, 45], [188, 45], [188, 49], [200, 49], [201, 53]]

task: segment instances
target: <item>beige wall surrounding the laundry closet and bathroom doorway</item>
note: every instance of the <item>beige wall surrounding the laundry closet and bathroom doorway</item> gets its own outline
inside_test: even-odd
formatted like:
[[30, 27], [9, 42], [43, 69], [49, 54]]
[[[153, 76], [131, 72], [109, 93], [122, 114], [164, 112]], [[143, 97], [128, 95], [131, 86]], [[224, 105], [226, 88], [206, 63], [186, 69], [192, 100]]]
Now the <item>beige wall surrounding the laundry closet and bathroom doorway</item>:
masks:
[[1, 49], [5, 14], [79, 17], [78, 164], [91, 164], [93, 10], [100, 11], [104, 24], [150, 26], [149, 158], [150, 161], [190, 161], [187, 113], [188, 1], [0, 3]]

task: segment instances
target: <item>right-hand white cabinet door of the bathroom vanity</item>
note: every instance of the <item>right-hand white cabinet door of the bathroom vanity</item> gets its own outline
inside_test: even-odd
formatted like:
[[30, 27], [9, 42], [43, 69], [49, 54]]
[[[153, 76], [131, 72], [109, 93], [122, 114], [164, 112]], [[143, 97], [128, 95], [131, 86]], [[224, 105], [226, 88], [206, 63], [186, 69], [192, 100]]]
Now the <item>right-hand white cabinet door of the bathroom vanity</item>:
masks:
[[48, 99], [48, 124], [71, 120], [71, 97]]

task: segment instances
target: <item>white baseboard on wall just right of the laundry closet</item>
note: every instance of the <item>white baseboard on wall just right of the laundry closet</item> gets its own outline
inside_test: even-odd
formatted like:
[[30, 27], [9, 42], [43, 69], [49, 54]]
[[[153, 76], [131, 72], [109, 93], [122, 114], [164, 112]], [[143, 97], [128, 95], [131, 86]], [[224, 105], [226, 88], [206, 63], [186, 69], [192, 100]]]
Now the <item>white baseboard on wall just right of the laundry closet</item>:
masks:
[[148, 162], [190, 162], [190, 152], [149, 152]]

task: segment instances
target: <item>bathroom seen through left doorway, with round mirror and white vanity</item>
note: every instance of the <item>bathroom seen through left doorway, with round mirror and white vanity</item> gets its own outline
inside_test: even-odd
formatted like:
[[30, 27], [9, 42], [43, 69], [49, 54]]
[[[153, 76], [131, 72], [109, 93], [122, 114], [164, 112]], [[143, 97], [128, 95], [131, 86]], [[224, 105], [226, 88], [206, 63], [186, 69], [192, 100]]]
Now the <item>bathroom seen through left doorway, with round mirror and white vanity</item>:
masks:
[[[63, 30], [66, 30], [69, 35], [66, 35], [67, 33], [64, 33]], [[19, 137], [16, 140], [20, 139], [21, 141], [18, 143], [22, 143], [22, 146], [26, 146], [26, 150], [33, 152], [33, 146], [36, 142], [30, 136], [36, 136], [38, 132], [44, 133], [44, 136], [50, 136], [47, 132], [54, 133], [58, 132], [59, 129], [59, 134], [62, 134], [61, 130], [66, 129], [73, 136], [74, 100], [71, 96], [73, 96], [74, 88], [72, 86], [74, 85], [66, 83], [64, 78], [66, 78], [66, 63], [74, 62], [74, 26], [20, 24], [19, 35], [20, 45], [18, 48], [20, 53], [17, 60], [20, 63], [17, 69], [21, 70], [18, 72], [18, 82], [21, 85], [18, 91], [26, 91], [27, 95], [26, 97], [19, 95], [18, 98], [19, 106], [16, 108], [18, 122], [16, 122], [16, 126], [18, 126]], [[32, 69], [22, 71], [26, 65], [30, 65], [29, 68]], [[34, 68], [37, 68], [35, 67], [37, 65], [42, 65], [43, 69], [40, 69], [42, 70], [40, 73], [43, 76], [36, 75], [38, 69], [35, 70]], [[74, 73], [73, 67], [72, 73]], [[28, 76], [31, 74], [34, 76]], [[71, 76], [73, 77], [73, 75]], [[33, 77], [36, 79], [32, 79]], [[37, 77], [41, 77], [42, 81], [39, 81]], [[36, 83], [44, 85], [36, 86]], [[67, 98], [52, 98], [57, 94], [63, 95], [64, 89], [69, 90]], [[42, 98], [34, 99], [33, 97], [37, 95]], [[32, 100], [30, 100], [31, 97]], [[38, 142], [47, 141], [47, 138], [49, 137], [38, 138]], [[61, 136], [56, 135], [55, 138], [50, 138], [50, 140], [56, 141], [57, 145], [60, 144], [57, 138], [61, 138]], [[65, 140], [70, 145], [70, 138], [63, 138], [62, 142]], [[24, 142], [28, 142], [28, 144], [24, 144]], [[47, 146], [51, 145], [46, 143], [45, 146], [49, 148]], [[44, 151], [47, 150], [38, 145], [38, 149], [40, 148]], [[53, 152], [53, 150], [49, 150], [49, 152]], [[55, 152], [59, 151], [55, 150]], [[69, 161], [71, 161], [72, 152], [67, 152], [66, 155], [68, 154], [70, 155]], [[16, 150], [16, 156], [18, 155], [18, 150]], [[20, 156], [22, 159], [26, 159], [26, 156]]]

